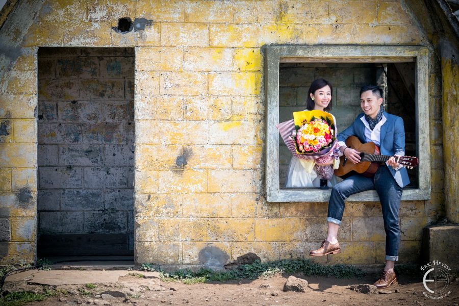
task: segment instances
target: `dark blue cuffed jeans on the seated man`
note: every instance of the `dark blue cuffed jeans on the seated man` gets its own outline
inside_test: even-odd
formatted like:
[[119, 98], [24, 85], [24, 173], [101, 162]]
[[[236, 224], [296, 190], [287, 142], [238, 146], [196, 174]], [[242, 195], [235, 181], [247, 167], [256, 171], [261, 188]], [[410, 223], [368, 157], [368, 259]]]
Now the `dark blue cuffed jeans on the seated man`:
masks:
[[373, 177], [356, 174], [331, 189], [328, 201], [327, 221], [340, 225], [344, 212], [344, 200], [351, 194], [376, 190], [381, 202], [384, 230], [386, 231], [386, 260], [397, 261], [400, 246], [398, 212], [402, 188], [395, 182], [386, 165], [379, 166]]

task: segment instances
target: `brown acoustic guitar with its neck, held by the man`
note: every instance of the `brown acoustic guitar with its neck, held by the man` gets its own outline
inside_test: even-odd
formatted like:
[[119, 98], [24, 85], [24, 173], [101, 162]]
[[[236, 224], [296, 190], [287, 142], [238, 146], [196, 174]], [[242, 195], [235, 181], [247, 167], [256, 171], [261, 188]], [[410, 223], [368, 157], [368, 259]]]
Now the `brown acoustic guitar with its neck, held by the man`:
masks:
[[[361, 160], [360, 163], [354, 164], [343, 155], [340, 157], [340, 167], [335, 170], [336, 176], [345, 178], [352, 174], [360, 173], [366, 177], [372, 177], [379, 165], [391, 158], [388, 155], [381, 155], [379, 147], [373, 142], [361, 143], [359, 138], [355, 136], [349, 136], [346, 139], [346, 145], [359, 151]], [[419, 164], [418, 159], [411, 156], [396, 156], [395, 161], [407, 168], [413, 168]]]

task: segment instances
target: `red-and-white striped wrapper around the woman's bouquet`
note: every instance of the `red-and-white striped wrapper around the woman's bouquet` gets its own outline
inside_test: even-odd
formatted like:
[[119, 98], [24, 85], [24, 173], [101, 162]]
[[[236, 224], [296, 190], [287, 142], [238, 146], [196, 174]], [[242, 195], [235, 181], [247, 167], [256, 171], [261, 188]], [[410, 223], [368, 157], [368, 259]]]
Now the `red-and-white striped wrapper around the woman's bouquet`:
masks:
[[292, 132], [296, 131], [295, 123], [293, 120], [288, 120], [279, 124], [276, 124], [277, 130], [281, 134], [282, 139], [284, 140], [285, 144], [289, 148], [290, 152], [292, 152], [293, 156], [303, 160], [315, 160], [316, 165], [314, 169], [316, 170], [317, 174], [326, 180], [331, 180], [333, 176], [333, 166], [317, 166], [317, 165], [324, 165], [328, 163], [331, 159], [339, 158], [338, 149], [340, 145], [338, 144], [338, 140], [335, 141], [327, 148], [322, 149], [316, 153], [312, 154], [299, 154], [297, 152], [295, 140], [292, 138]]

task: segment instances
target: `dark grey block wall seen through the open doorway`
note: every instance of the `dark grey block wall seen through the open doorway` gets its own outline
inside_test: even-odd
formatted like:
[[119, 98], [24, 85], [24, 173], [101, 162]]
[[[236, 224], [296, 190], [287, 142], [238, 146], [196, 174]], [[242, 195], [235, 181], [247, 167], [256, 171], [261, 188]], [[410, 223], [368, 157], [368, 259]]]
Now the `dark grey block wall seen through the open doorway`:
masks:
[[39, 49], [39, 235], [126, 234], [133, 251], [133, 84], [132, 48]]

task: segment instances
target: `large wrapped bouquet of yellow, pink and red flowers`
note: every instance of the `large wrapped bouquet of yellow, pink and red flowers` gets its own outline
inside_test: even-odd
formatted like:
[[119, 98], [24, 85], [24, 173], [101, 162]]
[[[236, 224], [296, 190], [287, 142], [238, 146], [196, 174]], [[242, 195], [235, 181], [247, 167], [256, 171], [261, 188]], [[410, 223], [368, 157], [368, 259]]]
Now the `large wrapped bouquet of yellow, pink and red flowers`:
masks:
[[[279, 123], [276, 127], [293, 156], [314, 161], [317, 165], [338, 160], [339, 144], [335, 137], [335, 122], [330, 114], [323, 111], [295, 112], [293, 120]], [[331, 180], [334, 167], [315, 168], [322, 179]]]

